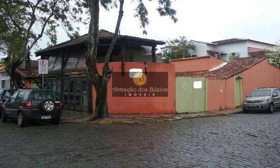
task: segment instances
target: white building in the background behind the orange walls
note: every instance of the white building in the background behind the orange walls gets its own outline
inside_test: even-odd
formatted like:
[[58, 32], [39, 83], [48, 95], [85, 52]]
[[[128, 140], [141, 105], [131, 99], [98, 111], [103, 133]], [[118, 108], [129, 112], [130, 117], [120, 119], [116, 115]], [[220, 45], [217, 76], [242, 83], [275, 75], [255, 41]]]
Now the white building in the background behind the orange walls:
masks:
[[230, 55], [235, 57], [254, 57], [256, 55], [263, 55], [267, 49], [271, 49], [274, 45], [250, 40], [250, 39], [227, 39], [220, 41], [203, 42], [190, 40], [189, 44], [195, 45], [195, 49], [189, 50], [193, 57], [201, 57], [211, 55], [223, 61], [228, 62]]

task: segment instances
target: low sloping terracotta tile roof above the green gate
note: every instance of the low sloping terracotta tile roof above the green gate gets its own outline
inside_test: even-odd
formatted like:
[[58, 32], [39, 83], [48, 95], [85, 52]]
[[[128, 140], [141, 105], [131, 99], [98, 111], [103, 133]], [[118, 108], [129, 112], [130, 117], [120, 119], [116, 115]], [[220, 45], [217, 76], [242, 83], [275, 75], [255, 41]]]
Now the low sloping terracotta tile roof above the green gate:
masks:
[[178, 72], [176, 76], [228, 79], [267, 59], [266, 57], [239, 58], [213, 71]]

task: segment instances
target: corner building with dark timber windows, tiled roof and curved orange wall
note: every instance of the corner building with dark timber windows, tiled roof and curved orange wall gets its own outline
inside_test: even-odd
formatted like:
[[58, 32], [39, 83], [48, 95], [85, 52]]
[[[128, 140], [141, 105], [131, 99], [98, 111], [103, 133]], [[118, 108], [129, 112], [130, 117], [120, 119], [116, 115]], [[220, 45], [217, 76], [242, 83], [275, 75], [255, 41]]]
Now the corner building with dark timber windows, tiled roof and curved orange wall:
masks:
[[[100, 30], [98, 35], [97, 66], [100, 69], [114, 33]], [[87, 39], [88, 35], [83, 35], [35, 52], [40, 59], [48, 60], [48, 74], [44, 75], [44, 89], [53, 90], [63, 101], [64, 109], [91, 111], [95, 106], [95, 101], [89, 101], [90, 94], [92, 94], [93, 98], [96, 95], [86, 69]], [[156, 46], [162, 44], [164, 44], [163, 41], [125, 35], [118, 36], [109, 60], [110, 67], [113, 68], [114, 72], [123, 73], [131, 69], [141, 69], [142, 72], [166, 71], [170, 74], [168, 81], [170, 82], [169, 86], [173, 85], [171, 87], [173, 90], [171, 89], [169, 94], [162, 99], [158, 97], [145, 99], [143, 97], [114, 97], [111, 96], [110, 79], [108, 83], [108, 108], [110, 114], [138, 114], [141, 111], [142, 113], [175, 113], [174, 65], [164, 64], [164, 60], [161, 60], [156, 55]], [[114, 77], [114, 74], [112, 76]], [[146, 101], [147, 99], [149, 101]], [[128, 103], [129, 101], [130, 103]], [[145, 108], [149, 107], [147, 103], [152, 102], [156, 107], [159, 101], [163, 101], [162, 105], [170, 105], [158, 108], [158, 110], [157, 108], [145, 110], [127, 107], [129, 105], [135, 107], [135, 104], [138, 104]]]

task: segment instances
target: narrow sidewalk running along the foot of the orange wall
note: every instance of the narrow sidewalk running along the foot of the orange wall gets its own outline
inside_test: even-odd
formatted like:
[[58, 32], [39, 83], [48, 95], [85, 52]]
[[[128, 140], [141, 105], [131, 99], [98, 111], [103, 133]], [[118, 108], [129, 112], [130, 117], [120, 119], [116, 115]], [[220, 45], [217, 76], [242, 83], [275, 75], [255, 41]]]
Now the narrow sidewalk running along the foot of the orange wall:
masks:
[[181, 119], [192, 119], [198, 117], [215, 117], [241, 113], [242, 108], [229, 110], [218, 110], [201, 113], [187, 114], [166, 114], [166, 115], [110, 115], [102, 120], [91, 121], [92, 114], [82, 111], [64, 110], [61, 117], [61, 123], [79, 123], [79, 124], [149, 124], [156, 122], [175, 121]]

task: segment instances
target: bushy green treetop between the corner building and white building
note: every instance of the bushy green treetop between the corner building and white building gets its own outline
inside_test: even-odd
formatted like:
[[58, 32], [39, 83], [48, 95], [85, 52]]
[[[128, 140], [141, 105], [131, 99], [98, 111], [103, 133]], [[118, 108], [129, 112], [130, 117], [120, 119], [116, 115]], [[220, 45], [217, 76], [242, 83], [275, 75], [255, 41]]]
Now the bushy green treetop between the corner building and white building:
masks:
[[163, 58], [171, 60], [188, 58], [191, 56], [188, 52], [189, 49], [194, 50], [195, 46], [189, 44], [185, 36], [181, 36], [179, 39], [174, 39], [166, 43], [163, 49]]

